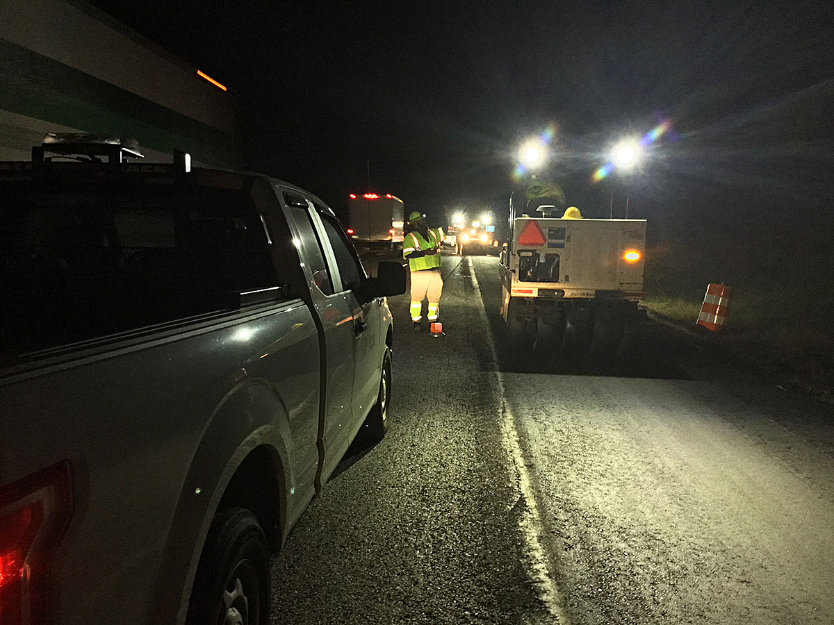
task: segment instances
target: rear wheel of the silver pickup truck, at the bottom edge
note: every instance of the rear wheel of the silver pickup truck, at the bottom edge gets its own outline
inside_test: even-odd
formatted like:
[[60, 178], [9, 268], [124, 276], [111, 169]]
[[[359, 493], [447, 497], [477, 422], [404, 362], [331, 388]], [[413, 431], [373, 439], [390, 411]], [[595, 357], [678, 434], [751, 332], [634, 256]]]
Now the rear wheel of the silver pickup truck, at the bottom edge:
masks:
[[214, 517], [188, 602], [188, 625], [267, 625], [269, 547], [258, 519], [242, 507]]

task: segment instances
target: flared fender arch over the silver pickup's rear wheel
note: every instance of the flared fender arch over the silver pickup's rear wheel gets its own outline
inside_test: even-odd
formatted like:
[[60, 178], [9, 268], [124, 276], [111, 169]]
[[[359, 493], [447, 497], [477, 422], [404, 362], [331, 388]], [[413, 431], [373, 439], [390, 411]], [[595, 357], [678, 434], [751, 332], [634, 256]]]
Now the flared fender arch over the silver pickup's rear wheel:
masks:
[[[159, 569], [150, 622], [184, 622], [203, 543], [225, 489], [244, 459], [266, 447], [274, 458], [282, 509], [292, 483], [289, 413], [275, 388], [263, 379], [235, 386], [214, 410], [199, 440], [180, 491]], [[282, 518], [283, 521], [283, 518]]]

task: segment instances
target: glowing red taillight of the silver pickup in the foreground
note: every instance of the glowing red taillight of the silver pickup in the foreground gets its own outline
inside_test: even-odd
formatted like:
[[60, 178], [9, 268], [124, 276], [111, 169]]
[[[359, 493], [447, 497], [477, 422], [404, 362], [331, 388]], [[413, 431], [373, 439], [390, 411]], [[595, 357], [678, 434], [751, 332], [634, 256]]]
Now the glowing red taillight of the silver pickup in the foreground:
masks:
[[68, 462], [0, 490], [0, 625], [48, 619], [55, 552], [72, 514]]

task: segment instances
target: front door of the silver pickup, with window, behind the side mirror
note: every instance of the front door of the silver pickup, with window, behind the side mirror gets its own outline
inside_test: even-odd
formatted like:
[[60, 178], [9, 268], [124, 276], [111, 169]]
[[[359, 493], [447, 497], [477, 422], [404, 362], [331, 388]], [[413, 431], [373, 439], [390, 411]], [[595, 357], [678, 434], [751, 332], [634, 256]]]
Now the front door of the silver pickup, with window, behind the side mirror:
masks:
[[364, 268], [347, 235], [332, 217], [317, 213], [324, 232], [333, 249], [334, 262], [339, 269], [342, 293], [349, 303], [354, 321], [354, 429], [368, 415], [379, 393], [379, 376], [382, 371], [382, 337], [379, 328], [381, 300], [361, 302], [357, 295], [359, 284], [365, 278]]

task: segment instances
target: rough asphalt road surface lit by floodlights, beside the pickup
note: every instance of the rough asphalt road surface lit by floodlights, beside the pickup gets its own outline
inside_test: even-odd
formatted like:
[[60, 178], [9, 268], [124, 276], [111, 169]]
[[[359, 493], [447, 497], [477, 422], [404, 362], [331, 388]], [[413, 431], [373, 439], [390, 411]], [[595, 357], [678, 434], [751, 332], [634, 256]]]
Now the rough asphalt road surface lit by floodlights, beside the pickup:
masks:
[[391, 429], [274, 557], [274, 623], [832, 623], [831, 408], [657, 323], [594, 365], [510, 345], [495, 258], [445, 336], [394, 311]]

